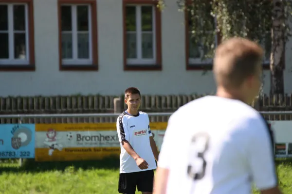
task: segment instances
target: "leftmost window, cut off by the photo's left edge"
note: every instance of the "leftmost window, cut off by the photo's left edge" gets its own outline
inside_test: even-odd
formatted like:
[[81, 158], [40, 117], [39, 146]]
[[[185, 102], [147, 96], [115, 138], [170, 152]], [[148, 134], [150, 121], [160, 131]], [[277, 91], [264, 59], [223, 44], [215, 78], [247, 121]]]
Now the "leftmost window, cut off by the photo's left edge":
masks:
[[0, 69], [34, 70], [32, 1], [7, 2], [0, 1]]

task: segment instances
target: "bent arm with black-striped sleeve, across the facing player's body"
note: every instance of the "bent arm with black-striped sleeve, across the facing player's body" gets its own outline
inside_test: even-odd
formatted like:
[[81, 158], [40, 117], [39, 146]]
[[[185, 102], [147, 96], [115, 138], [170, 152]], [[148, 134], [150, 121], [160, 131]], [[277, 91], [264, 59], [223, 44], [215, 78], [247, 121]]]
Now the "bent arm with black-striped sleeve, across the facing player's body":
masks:
[[142, 159], [137, 152], [135, 152], [134, 148], [128, 142], [129, 133], [128, 133], [128, 123], [126, 117], [119, 117], [117, 121], [117, 131], [119, 141], [122, 146], [125, 148], [127, 153], [136, 161], [138, 167], [140, 169], [147, 169], [149, 165], [144, 159]]

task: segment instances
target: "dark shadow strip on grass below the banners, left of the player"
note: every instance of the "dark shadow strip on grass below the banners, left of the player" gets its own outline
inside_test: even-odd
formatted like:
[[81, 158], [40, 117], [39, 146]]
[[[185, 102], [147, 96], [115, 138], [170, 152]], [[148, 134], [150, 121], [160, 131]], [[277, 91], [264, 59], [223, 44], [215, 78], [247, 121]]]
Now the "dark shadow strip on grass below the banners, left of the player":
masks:
[[27, 159], [23, 161], [21, 167], [16, 165], [0, 165], [0, 175], [6, 173], [18, 173], [18, 172], [45, 172], [45, 171], [65, 171], [70, 168], [75, 171], [78, 169], [119, 169], [120, 161], [117, 157], [105, 158], [103, 160], [96, 161], [71, 161], [71, 162], [35, 162], [33, 159]]

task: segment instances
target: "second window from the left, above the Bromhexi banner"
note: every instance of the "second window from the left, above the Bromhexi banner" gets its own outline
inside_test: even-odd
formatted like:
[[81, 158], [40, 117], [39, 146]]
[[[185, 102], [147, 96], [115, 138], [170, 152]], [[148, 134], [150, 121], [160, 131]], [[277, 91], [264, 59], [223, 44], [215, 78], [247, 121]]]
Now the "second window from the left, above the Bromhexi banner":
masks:
[[96, 4], [75, 1], [60, 5], [61, 69], [97, 69]]

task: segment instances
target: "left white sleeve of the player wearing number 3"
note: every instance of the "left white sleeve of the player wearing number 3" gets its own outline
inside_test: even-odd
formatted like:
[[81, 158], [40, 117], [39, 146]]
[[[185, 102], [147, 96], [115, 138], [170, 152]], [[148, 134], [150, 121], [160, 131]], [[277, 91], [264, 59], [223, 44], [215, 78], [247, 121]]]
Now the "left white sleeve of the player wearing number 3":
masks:
[[171, 116], [168, 119], [167, 128], [164, 134], [164, 139], [157, 162], [157, 165], [161, 168], [170, 168], [170, 162], [172, 156], [174, 155], [173, 150], [176, 140], [175, 130], [173, 116]]

